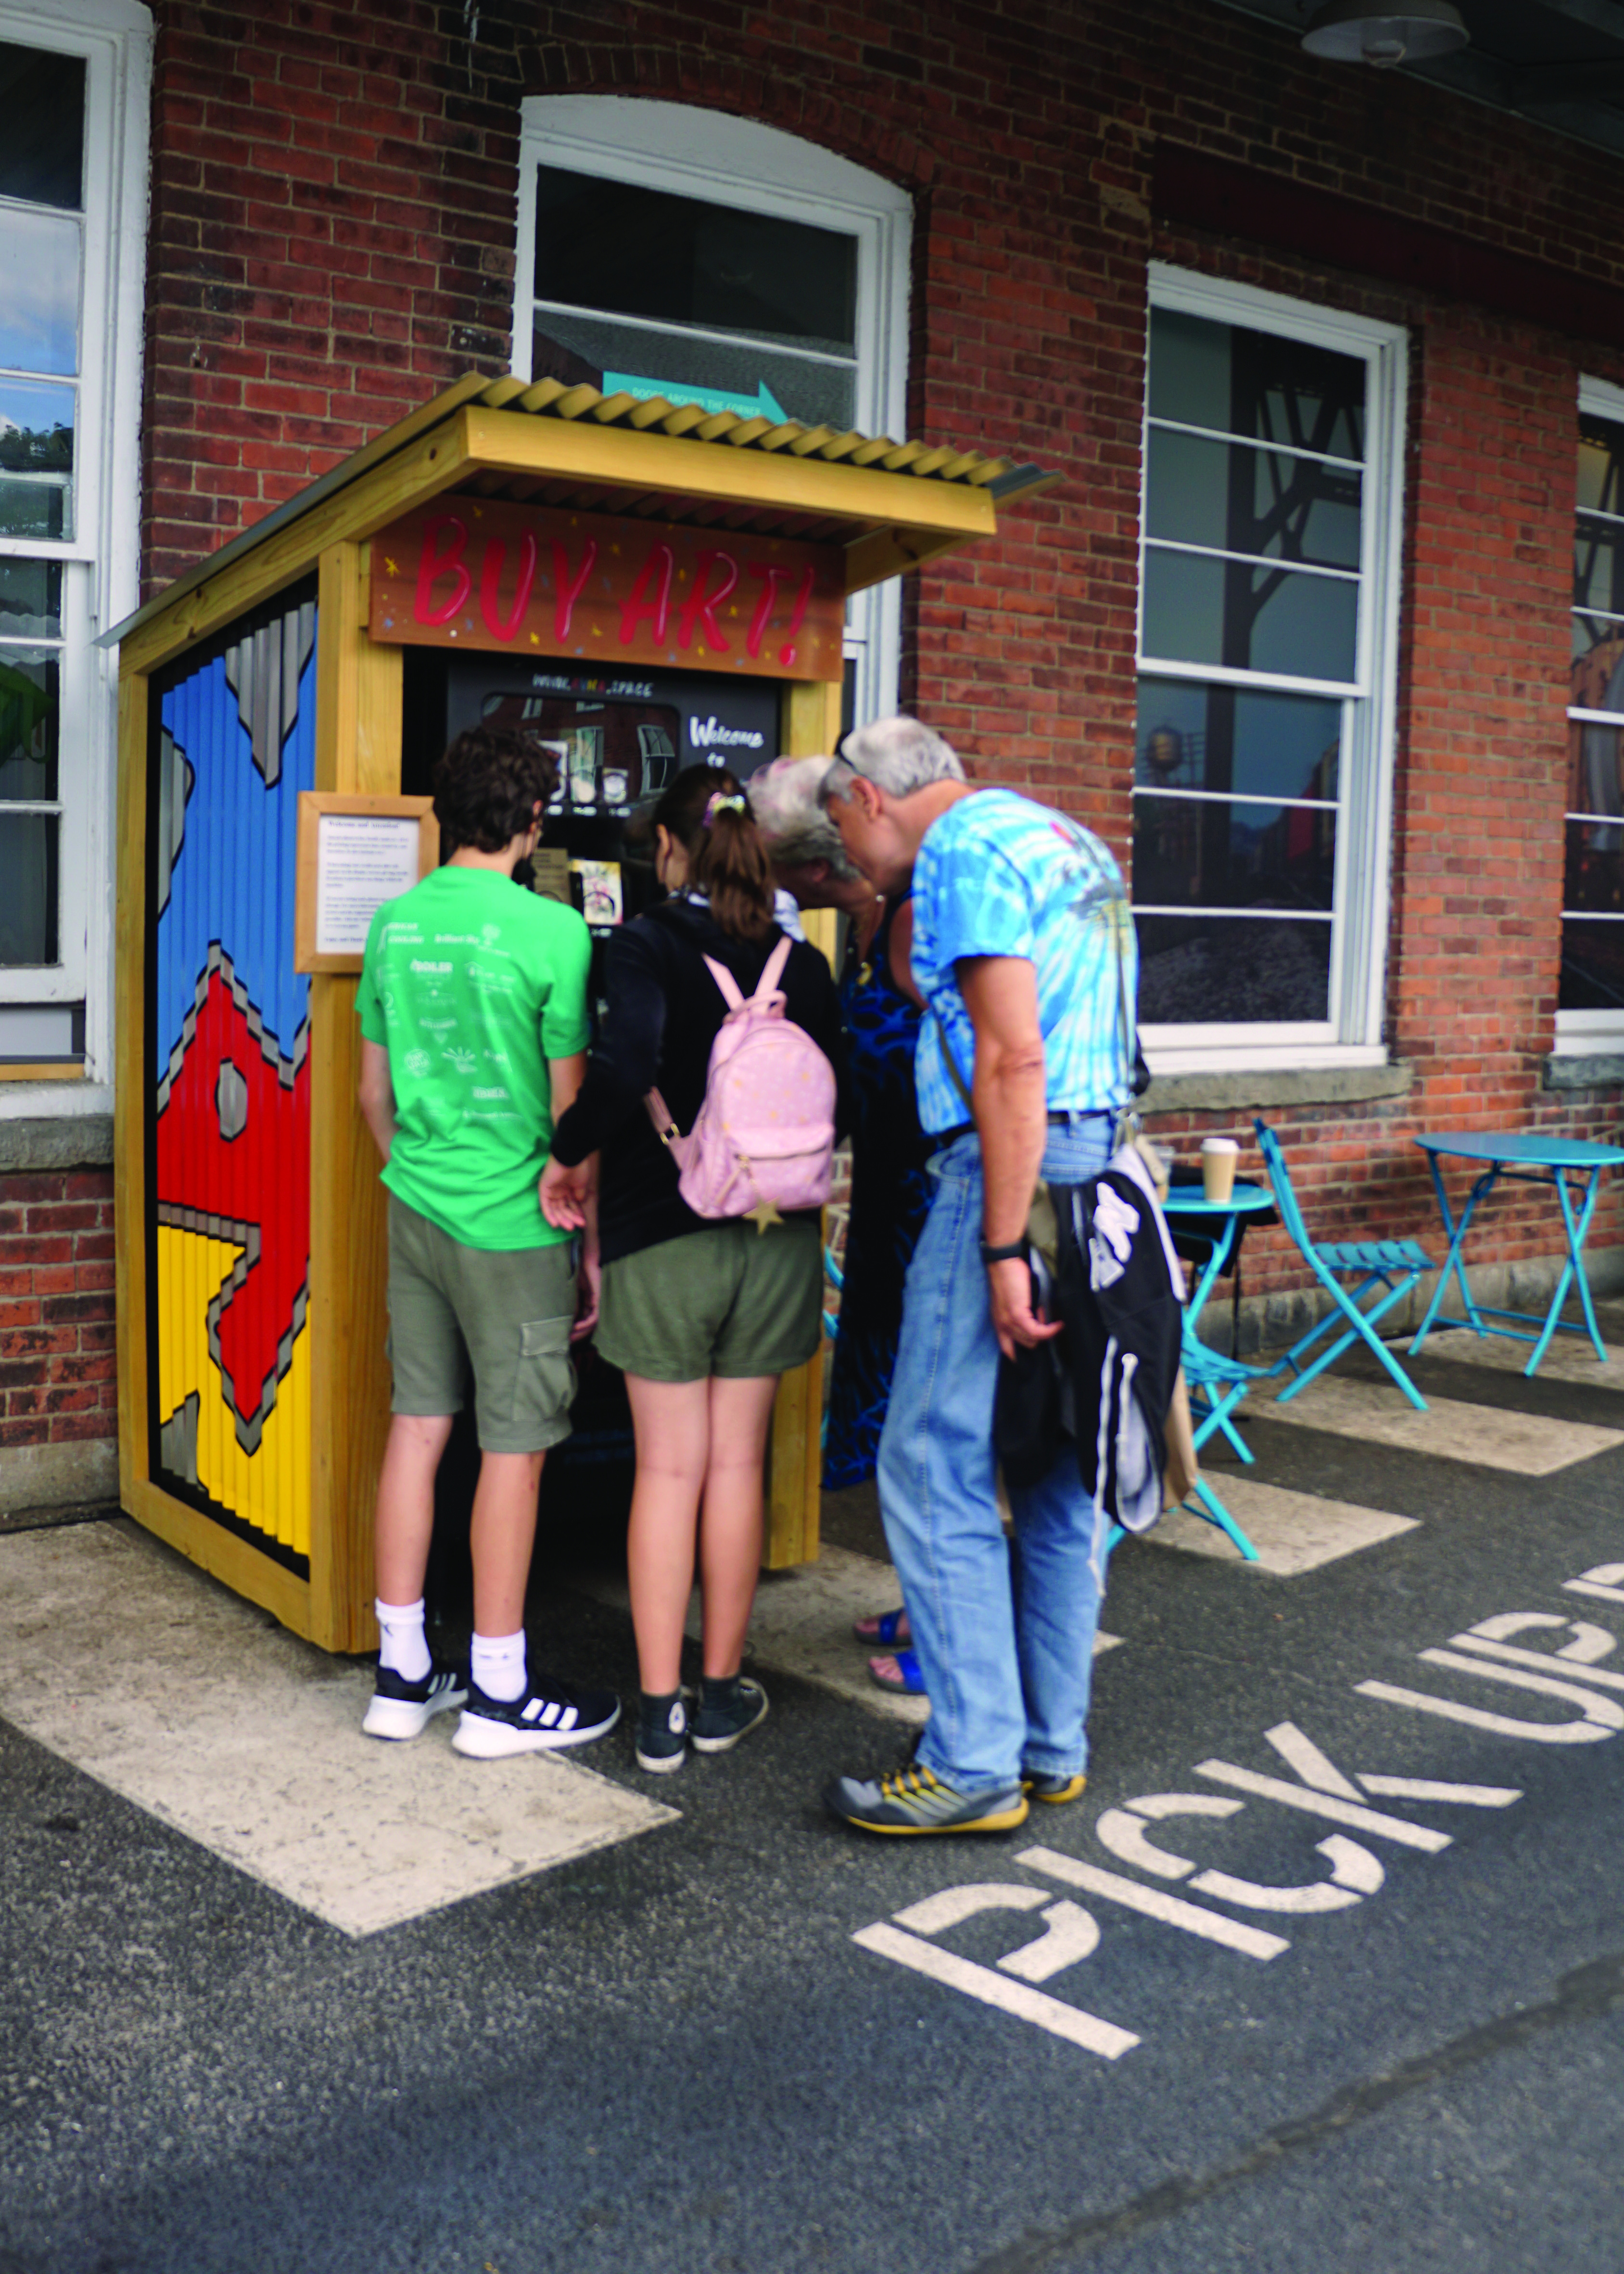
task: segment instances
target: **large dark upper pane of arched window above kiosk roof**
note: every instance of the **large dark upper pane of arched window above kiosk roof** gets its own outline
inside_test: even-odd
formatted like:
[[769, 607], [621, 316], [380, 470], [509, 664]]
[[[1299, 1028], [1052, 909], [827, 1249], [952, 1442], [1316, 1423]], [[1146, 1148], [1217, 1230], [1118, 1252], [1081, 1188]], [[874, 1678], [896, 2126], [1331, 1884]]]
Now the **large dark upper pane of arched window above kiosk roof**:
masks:
[[[851, 355], [857, 239], [537, 168], [537, 300]], [[655, 373], [660, 375], [660, 373]]]

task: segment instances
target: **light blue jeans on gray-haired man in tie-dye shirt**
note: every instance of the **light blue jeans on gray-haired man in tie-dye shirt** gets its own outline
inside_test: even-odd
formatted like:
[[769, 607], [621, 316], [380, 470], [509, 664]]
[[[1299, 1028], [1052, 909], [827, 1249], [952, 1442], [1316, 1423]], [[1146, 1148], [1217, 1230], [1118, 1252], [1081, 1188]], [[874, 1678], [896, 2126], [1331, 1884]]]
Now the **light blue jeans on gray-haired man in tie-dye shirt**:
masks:
[[[1044, 1176], [1096, 1176], [1110, 1137], [1108, 1114], [1051, 1126]], [[999, 1337], [980, 1262], [980, 1139], [946, 1146], [930, 1173], [880, 1435], [880, 1512], [930, 1694], [919, 1760], [976, 1792], [1008, 1787], [1021, 1769], [1076, 1776], [1087, 1762], [1108, 1526], [1067, 1449], [1042, 1485], [1010, 1494], [1012, 1574], [994, 1499]]]

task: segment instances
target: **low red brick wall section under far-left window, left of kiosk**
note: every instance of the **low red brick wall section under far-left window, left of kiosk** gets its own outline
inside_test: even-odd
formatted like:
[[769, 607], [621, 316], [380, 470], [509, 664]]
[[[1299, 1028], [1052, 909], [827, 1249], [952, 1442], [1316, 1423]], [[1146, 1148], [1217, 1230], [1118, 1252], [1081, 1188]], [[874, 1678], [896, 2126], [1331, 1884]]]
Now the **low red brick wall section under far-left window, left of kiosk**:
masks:
[[111, 1169], [0, 1176], [0, 1451], [118, 1433]]

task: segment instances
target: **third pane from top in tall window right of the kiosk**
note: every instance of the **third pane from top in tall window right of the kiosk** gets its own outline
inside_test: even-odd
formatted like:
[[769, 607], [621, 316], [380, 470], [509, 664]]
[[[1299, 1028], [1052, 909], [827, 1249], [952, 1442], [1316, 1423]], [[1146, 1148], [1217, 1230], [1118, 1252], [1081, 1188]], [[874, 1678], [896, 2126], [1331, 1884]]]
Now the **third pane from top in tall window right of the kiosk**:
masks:
[[1299, 680], [1353, 680], [1358, 582], [1146, 550], [1144, 653]]

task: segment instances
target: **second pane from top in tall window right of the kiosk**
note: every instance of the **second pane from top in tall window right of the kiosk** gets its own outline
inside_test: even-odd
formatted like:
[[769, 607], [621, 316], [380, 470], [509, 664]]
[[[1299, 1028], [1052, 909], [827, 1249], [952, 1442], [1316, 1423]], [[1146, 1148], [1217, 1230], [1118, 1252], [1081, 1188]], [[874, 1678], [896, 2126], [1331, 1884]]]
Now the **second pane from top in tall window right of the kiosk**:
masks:
[[1360, 475], [1312, 457], [1151, 430], [1146, 537], [1319, 568], [1360, 564]]

